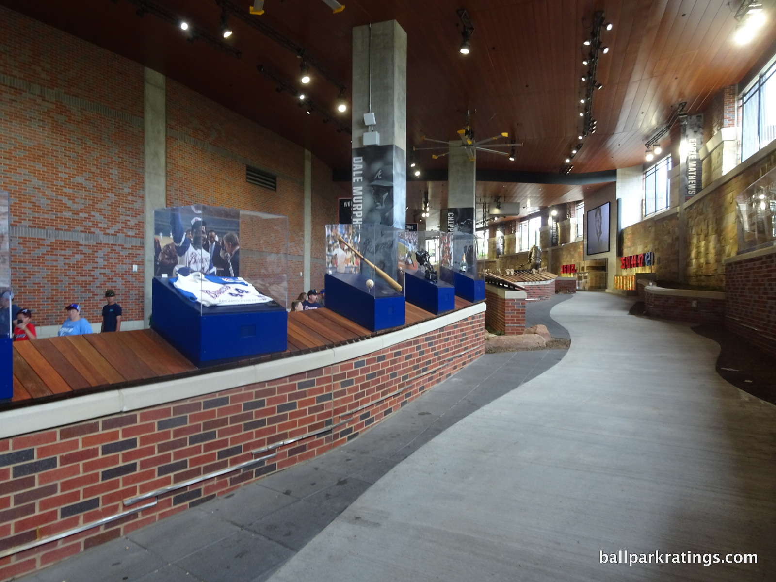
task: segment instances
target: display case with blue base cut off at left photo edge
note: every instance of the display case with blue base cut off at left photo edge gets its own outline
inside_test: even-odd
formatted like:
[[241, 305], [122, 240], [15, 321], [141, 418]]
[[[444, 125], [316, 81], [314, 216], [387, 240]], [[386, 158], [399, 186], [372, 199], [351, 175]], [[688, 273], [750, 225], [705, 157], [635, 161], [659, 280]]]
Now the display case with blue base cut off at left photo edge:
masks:
[[0, 192], [0, 400], [13, 397], [10, 219], [8, 192]]

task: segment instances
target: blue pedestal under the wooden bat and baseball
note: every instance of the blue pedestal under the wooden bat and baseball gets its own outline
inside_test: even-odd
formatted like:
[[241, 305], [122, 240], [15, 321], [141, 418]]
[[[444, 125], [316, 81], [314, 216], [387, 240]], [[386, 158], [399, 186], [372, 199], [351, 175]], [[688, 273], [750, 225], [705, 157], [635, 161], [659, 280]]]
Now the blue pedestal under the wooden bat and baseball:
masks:
[[326, 275], [326, 307], [369, 331], [404, 325], [404, 296], [382, 279], [374, 279], [371, 291], [368, 277], [360, 273]]

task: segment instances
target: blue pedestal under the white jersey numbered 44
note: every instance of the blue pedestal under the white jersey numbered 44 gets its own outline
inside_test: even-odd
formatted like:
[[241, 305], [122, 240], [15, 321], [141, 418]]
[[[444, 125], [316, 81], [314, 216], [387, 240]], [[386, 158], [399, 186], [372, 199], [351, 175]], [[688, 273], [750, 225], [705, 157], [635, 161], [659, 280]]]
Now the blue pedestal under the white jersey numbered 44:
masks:
[[196, 365], [285, 352], [288, 314], [274, 301], [202, 307], [186, 299], [171, 279], [154, 277], [151, 327]]

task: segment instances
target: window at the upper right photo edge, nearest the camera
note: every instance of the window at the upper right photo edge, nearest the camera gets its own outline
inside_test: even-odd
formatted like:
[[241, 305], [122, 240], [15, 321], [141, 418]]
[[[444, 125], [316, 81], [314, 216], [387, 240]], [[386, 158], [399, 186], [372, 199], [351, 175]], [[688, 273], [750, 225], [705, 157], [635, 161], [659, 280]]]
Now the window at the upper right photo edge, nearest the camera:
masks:
[[776, 139], [776, 63], [741, 95], [741, 161]]

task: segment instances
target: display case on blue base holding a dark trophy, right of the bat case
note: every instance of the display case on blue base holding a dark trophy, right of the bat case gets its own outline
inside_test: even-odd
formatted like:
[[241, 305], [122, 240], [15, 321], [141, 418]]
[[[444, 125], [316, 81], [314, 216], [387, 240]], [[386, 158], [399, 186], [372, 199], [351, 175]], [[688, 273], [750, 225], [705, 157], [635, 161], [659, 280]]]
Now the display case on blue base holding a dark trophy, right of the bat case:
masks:
[[432, 314], [456, 308], [456, 289], [439, 278], [442, 267], [452, 272], [452, 235], [438, 230], [405, 232], [399, 241], [399, 268], [404, 296]]

